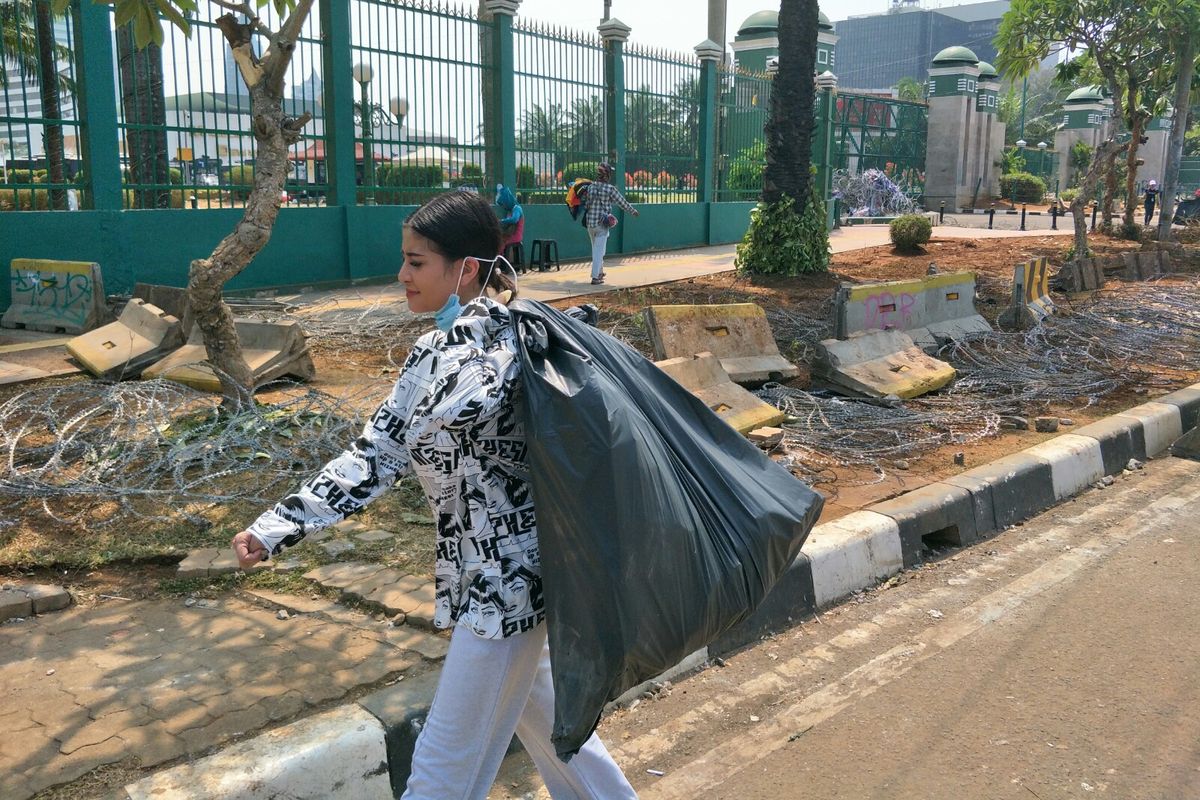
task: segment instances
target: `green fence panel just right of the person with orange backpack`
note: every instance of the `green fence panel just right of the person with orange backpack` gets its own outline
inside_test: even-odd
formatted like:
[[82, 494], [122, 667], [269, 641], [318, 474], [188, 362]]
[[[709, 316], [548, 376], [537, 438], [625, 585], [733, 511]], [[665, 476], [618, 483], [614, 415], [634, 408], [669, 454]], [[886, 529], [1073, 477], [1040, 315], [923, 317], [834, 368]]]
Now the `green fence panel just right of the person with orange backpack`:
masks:
[[625, 187], [635, 199], [696, 203], [700, 166], [700, 60], [626, 47]]

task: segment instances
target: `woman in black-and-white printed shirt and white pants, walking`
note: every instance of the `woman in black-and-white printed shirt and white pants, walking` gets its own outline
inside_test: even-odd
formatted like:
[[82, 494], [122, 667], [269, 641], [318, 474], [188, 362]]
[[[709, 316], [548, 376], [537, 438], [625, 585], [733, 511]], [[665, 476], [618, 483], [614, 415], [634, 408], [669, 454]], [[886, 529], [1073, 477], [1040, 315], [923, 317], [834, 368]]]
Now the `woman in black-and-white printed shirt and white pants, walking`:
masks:
[[350, 447], [234, 536], [244, 567], [360, 511], [414, 474], [437, 519], [433, 624], [452, 628], [403, 800], [485, 800], [516, 733], [551, 796], [636, 798], [593, 734], [564, 764], [551, 745], [554, 693], [536, 516], [526, 465], [511, 265], [478, 194], [449, 192], [404, 224], [409, 309], [434, 313], [391, 396]]

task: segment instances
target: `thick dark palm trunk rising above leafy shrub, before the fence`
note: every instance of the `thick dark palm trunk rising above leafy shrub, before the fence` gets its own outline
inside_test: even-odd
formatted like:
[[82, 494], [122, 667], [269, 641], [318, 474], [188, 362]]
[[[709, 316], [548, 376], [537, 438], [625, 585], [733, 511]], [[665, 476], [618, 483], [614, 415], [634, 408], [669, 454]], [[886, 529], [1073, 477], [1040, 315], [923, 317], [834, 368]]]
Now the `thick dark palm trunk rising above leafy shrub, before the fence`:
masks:
[[779, 72], [767, 118], [767, 169], [762, 199], [792, 198], [796, 211], [808, 207], [812, 176], [812, 109], [817, 64], [816, 0], [782, 0], [779, 10]]

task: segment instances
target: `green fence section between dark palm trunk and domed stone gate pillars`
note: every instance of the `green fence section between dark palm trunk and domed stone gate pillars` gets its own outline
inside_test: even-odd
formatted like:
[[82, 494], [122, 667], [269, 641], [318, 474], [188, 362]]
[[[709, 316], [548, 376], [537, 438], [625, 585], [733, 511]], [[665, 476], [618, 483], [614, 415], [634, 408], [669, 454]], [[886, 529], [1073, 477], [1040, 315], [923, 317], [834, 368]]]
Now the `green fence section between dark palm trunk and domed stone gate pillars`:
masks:
[[833, 110], [833, 166], [857, 175], [880, 169], [910, 197], [925, 191], [929, 107], [840, 94]]

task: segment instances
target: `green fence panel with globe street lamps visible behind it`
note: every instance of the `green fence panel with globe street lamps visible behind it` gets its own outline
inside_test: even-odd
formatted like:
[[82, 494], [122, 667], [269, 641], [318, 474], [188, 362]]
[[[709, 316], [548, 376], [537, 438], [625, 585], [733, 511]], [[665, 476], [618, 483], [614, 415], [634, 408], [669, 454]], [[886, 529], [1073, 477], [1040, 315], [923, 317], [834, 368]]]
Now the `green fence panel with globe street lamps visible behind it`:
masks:
[[353, 0], [355, 172], [366, 205], [412, 205], [449, 187], [494, 182], [485, 102], [494, 26], [427, 2]]

